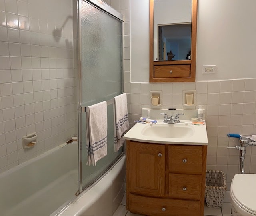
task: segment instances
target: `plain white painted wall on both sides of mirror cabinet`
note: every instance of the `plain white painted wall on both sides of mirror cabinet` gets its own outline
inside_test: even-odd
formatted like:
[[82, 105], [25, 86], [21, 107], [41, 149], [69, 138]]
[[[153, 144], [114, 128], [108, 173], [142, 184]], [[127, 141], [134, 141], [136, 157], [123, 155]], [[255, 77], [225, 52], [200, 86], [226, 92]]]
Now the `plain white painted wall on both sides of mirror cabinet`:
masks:
[[[131, 81], [148, 82], [149, 1], [130, 4]], [[255, 77], [255, 7], [255, 0], [198, 0], [196, 81]], [[203, 65], [216, 65], [216, 74], [202, 74]]]

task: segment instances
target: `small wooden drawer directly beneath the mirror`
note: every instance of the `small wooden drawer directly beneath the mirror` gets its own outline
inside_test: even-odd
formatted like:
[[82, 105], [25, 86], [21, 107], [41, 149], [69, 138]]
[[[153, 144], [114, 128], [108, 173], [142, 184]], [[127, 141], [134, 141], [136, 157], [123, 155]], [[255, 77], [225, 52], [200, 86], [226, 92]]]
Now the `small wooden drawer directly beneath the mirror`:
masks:
[[[170, 72], [172, 71], [172, 72]], [[155, 65], [154, 78], [190, 77], [190, 64]]]

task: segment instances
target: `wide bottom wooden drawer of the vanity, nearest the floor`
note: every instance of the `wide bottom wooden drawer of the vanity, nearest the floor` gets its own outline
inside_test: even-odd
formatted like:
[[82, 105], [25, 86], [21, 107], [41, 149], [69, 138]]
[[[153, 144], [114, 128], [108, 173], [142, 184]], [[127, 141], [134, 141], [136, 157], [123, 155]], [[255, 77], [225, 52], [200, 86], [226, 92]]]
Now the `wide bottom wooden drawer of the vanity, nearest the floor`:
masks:
[[130, 194], [130, 212], [144, 215], [200, 215], [200, 201], [154, 198]]

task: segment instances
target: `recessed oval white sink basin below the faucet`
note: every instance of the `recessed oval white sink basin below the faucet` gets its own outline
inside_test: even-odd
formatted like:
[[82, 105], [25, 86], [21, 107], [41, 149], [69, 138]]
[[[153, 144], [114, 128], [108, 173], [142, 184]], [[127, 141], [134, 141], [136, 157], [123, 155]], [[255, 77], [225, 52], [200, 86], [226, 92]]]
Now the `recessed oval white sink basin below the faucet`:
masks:
[[195, 130], [190, 125], [183, 124], [156, 124], [145, 127], [142, 135], [162, 138], [185, 138], [193, 136]]

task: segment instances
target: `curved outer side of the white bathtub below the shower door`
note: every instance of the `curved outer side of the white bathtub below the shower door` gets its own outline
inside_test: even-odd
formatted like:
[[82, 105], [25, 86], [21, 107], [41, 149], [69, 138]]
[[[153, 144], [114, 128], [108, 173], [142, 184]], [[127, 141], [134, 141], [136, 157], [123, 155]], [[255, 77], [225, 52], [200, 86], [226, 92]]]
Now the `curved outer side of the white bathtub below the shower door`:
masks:
[[112, 216], [125, 193], [126, 157], [123, 156], [96, 184], [82, 192], [60, 216]]

